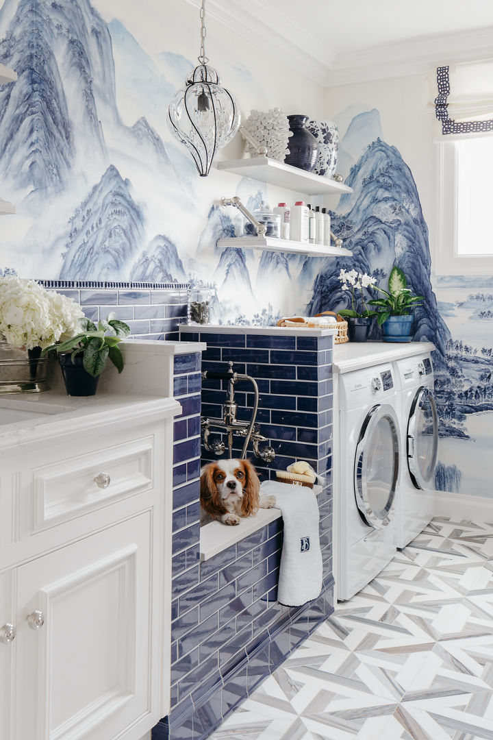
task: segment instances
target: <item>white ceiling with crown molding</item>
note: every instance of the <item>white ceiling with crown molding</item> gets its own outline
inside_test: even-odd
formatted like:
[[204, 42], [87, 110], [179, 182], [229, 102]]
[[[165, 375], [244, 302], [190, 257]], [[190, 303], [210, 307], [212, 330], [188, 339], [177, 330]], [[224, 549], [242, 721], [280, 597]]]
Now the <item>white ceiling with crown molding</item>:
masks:
[[492, 0], [205, 0], [205, 13], [326, 85], [493, 57]]

